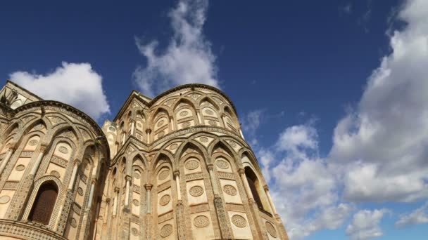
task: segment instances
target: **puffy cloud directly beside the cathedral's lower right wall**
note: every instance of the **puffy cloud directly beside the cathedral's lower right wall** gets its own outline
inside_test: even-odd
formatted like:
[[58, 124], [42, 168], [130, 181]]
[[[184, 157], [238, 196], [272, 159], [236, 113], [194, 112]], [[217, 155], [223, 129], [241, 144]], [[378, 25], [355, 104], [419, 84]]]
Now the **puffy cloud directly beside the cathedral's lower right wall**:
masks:
[[341, 203], [334, 171], [318, 156], [317, 131], [310, 124], [291, 126], [275, 146], [260, 149], [263, 175], [291, 239], [320, 229], [336, 229], [353, 211]]

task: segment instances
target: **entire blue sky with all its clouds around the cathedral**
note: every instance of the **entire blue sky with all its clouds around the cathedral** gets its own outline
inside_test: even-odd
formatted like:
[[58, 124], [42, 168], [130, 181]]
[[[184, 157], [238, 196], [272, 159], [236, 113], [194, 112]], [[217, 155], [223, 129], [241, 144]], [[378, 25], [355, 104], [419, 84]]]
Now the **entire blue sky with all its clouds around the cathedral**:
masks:
[[291, 239], [428, 236], [426, 1], [1, 5], [3, 81], [99, 124], [132, 89], [225, 91]]

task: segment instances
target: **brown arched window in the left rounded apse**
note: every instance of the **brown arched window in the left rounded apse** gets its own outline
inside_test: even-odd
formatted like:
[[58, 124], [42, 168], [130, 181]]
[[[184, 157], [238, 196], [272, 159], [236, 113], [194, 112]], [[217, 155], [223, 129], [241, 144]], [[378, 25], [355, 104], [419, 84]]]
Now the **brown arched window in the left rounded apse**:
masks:
[[55, 206], [56, 197], [58, 196], [58, 187], [54, 182], [45, 182], [37, 192], [34, 204], [30, 212], [29, 220], [41, 222], [44, 225], [49, 225], [53, 206]]

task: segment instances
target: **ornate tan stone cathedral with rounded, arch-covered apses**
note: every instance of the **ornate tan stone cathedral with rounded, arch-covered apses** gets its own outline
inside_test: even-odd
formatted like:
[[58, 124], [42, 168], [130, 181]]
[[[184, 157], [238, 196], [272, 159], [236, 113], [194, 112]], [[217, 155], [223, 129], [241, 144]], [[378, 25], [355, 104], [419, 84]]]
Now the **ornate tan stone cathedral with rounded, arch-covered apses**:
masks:
[[0, 239], [288, 239], [217, 88], [132, 91], [102, 127], [11, 81], [0, 98]]

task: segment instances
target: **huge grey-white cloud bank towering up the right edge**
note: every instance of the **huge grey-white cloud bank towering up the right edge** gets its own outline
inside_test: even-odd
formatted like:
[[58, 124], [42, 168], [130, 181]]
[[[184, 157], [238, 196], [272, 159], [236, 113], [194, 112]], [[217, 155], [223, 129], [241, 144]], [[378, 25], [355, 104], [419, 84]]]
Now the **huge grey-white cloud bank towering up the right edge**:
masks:
[[[372, 72], [355, 112], [339, 121], [330, 158], [346, 164], [351, 201], [428, 197], [428, 1], [406, 1], [407, 23], [390, 35], [391, 53]], [[350, 164], [351, 163], [351, 164]]]

